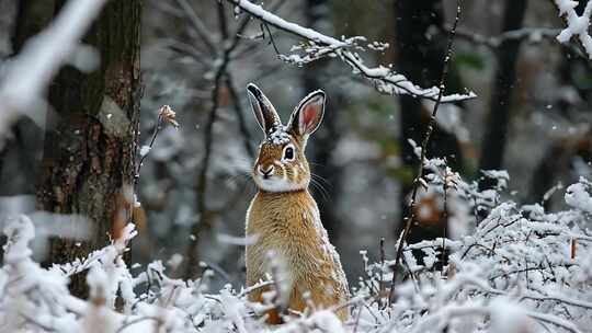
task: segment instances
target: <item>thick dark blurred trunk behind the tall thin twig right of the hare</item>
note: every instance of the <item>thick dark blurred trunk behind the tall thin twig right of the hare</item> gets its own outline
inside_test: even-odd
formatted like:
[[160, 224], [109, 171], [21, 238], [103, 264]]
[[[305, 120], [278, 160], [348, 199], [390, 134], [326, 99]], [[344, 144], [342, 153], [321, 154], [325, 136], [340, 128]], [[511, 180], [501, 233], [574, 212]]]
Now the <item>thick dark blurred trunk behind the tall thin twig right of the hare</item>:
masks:
[[[411, 81], [423, 87], [439, 84], [444, 59], [444, 48], [446, 38], [440, 38], [437, 34], [431, 33], [431, 27], [442, 27], [443, 9], [440, 0], [424, 1], [395, 1], [395, 47], [397, 53], [397, 69]], [[441, 36], [442, 37], [442, 36]], [[453, 77], [453, 76], [451, 76]], [[448, 78], [451, 78], [448, 77]], [[454, 82], [448, 80], [447, 90], [456, 89]], [[400, 137], [399, 145], [403, 164], [415, 175], [419, 159], [409, 145], [408, 139], [413, 139], [421, 145], [431, 110], [422, 105], [422, 101], [409, 95], [399, 96], [400, 101]], [[445, 157], [448, 164], [458, 170], [463, 165], [460, 147], [454, 134], [442, 130], [437, 125], [428, 146], [428, 158]], [[412, 183], [405, 182], [401, 186], [401, 221], [409, 216], [408, 194], [411, 192]], [[419, 205], [422, 203], [420, 202]], [[405, 223], [399, 223], [402, 228]], [[442, 222], [435, 225], [413, 226], [409, 234], [411, 242], [432, 239], [444, 236]]]

